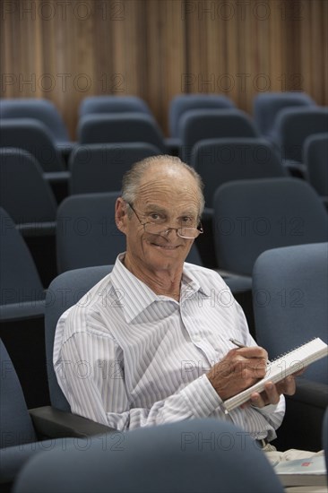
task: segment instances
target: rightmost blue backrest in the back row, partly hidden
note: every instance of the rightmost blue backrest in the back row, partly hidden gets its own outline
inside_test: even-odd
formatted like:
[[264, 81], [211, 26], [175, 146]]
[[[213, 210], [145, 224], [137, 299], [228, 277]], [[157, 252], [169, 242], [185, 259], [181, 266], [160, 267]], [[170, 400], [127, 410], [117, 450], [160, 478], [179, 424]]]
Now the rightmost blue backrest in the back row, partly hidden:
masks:
[[306, 92], [261, 92], [253, 101], [255, 125], [261, 135], [269, 136], [278, 113], [283, 108], [315, 106], [315, 100]]

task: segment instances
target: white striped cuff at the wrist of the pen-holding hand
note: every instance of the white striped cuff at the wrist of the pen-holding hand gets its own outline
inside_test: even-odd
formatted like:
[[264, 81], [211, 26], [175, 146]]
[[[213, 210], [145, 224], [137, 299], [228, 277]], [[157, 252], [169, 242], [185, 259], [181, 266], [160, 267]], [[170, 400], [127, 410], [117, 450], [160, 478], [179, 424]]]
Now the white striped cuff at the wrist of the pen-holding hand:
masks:
[[194, 382], [187, 385], [181, 394], [186, 399], [188, 408], [193, 410], [195, 418], [206, 418], [222, 403], [205, 375], [199, 376]]

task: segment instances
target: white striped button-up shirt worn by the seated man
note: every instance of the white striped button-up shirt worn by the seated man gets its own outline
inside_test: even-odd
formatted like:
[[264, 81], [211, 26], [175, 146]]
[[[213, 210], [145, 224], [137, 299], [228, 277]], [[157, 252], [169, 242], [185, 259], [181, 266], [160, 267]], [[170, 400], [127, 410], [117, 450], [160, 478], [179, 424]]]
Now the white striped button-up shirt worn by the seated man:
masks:
[[204, 375], [234, 347], [230, 337], [255, 345], [220, 275], [185, 263], [177, 302], [156, 295], [120, 258], [56, 327], [54, 366], [72, 412], [119, 430], [217, 417], [273, 439], [283, 396], [227, 415]]

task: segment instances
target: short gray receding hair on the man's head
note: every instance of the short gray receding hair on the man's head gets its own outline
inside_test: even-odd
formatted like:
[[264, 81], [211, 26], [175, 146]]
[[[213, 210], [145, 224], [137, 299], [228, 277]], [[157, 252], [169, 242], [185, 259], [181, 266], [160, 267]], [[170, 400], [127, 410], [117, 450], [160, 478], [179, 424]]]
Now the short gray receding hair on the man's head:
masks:
[[163, 164], [169, 163], [170, 166], [186, 169], [190, 173], [196, 182], [198, 193], [199, 193], [199, 218], [203, 213], [203, 208], [205, 205], [205, 199], [203, 196], [203, 180], [200, 175], [188, 166], [185, 162], [177, 158], [176, 156], [169, 156], [167, 154], [160, 156], [151, 156], [150, 158], [145, 158], [144, 160], [134, 163], [131, 169], [126, 171], [122, 180], [122, 198], [126, 203], [134, 203], [142, 180], [143, 174], [151, 168], [152, 165], [161, 162]]

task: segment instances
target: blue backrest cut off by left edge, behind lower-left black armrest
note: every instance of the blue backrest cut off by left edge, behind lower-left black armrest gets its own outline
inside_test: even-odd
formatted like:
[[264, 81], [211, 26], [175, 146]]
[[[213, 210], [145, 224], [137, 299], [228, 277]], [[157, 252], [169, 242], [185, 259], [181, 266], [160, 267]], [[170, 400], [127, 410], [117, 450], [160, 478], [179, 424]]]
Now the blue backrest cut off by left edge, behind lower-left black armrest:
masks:
[[36, 434], [12, 359], [0, 339], [0, 448], [34, 442]]

